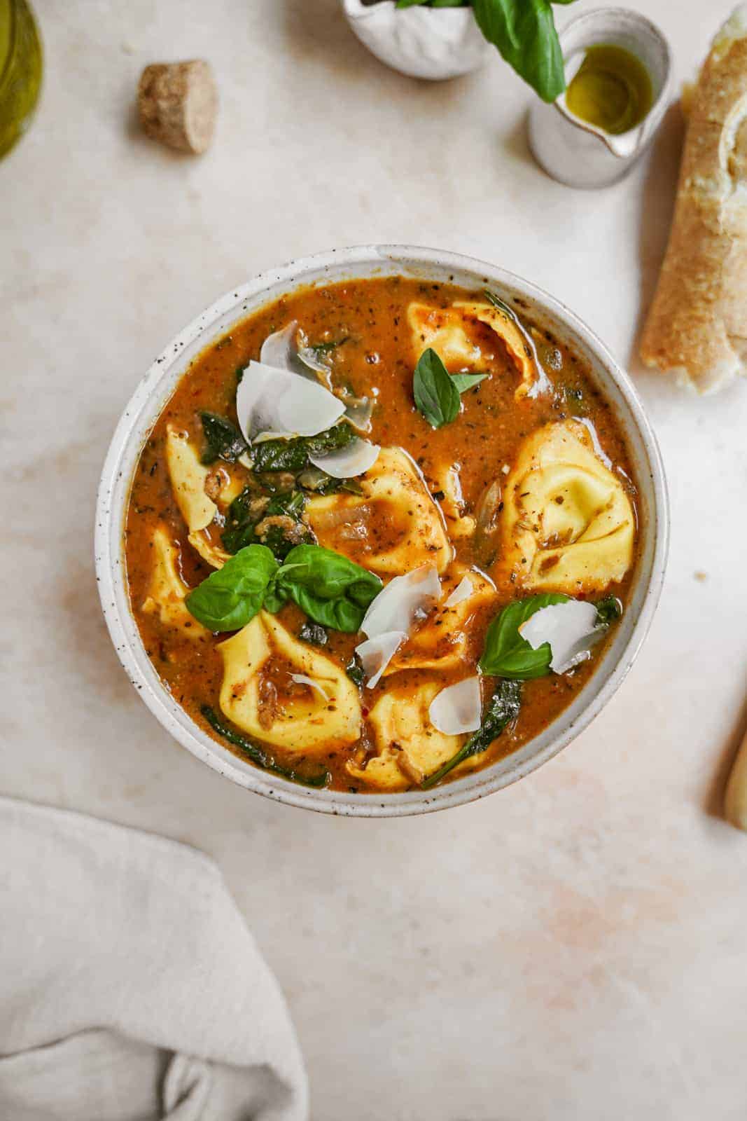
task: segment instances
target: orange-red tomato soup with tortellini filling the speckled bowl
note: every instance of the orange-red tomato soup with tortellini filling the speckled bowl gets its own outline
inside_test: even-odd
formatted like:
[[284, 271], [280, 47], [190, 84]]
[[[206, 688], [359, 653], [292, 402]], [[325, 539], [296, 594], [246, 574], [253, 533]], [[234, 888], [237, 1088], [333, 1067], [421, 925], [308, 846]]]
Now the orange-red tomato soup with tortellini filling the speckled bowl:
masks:
[[[324, 464], [333, 460], [324, 457], [321, 467], [307, 462], [301, 472], [298, 464], [256, 470], [262, 442], [239, 434], [246, 423], [237, 415], [237, 386], [246, 381], [251, 391], [249, 379], [274, 364], [249, 365], [279, 332], [291, 379], [323, 386], [345, 405], [329, 430], [351, 425], [347, 414], [358, 409], [351, 426], [364, 443], [355, 446], [364, 456], [381, 448], [364, 472], [330, 482]], [[310, 362], [305, 373], [299, 352]], [[206, 415], [218, 418], [217, 436]], [[348, 435], [345, 428], [340, 438]], [[295, 432], [270, 443], [282, 439], [304, 453]], [[211, 344], [153, 426], [127, 517], [130, 602], [166, 688], [237, 754], [338, 790], [427, 788], [515, 751], [583, 688], [625, 610], [636, 518], [634, 473], [614, 409], [581, 359], [533, 324], [519, 300], [506, 307], [482, 291], [398, 277], [309, 287]], [[240, 615], [215, 630], [213, 615], [197, 610], [195, 590], [215, 573], [227, 580], [242, 554], [250, 557], [250, 540], [252, 550], [261, 546], [252, 556], [274, 573], [269, 591], [256, 593], [265, 599], [248, 623], [231, 626], [259, 600], [246, 610], [242, 601]], [[298, 548], [319, 550], [325, 563], [332, 552], [365, 569], [370, 583], [352, 593], [361, 602], [352, 602], [347, 629], [329, 624], [336, 605], [325, 600], [319, 608], [316, 585], [301, 592], [293, 584], [300, 554], [289, 550]], [[399, 645], [387, 663], [391, 643], [374, 650], [372, 669], [364, 647], [371, 634], [365, 623], [361, 633], [355, 612], [371, 613], [382, 589], [412, 573], [429, 575], [430, 599], [414, 608], [412, 596], [395, 603]], [[252, 568], [251, 580], [262, 584], [265, 576]], [[231, 595], [239, 602], [240, 592]], [[578, 604], [598, 606], [587, 648], [568, 668], [549, 668], [550, 654], [558, 663], [555, 638], [532, 646], [507, 615], [497, 634], [502, 611], [525, 602], [538, 624], [551, 608], [571, 603], [580, 614], [590, 609]], [[380, 639], [373, 636], [374, 647]], [[372, 682], [376, 665], [383, 676]], [[468, 678], [452, 705], [445, 691]], [[507, 692], [499, 696], [498, 686]], [[468, 694], [474, 708], [474, 691], [482, 731], [474, 712], [463, 720], [468, 730], [455, 731]], [[446, 716], [437, 716], [438, 696]], [[452, 765], [465, 745], [466, 757]]]

